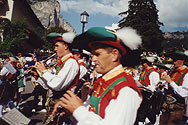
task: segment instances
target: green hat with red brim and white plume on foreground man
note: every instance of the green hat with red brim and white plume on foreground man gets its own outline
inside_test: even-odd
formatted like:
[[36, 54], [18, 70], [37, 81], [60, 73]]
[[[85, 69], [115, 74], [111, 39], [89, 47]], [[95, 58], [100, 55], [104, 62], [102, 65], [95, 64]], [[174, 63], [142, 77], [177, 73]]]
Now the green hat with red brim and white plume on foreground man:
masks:
[[135, 50], [141, 45], [141, 37], [130, 27], [114, 31], [103, 27], [93, 27], [74, 38], [73, 44], [76, 47], [91, 51], [97, 44], [105, 44], [120, 50], [122, 55], [127, 52], [127, 47]]

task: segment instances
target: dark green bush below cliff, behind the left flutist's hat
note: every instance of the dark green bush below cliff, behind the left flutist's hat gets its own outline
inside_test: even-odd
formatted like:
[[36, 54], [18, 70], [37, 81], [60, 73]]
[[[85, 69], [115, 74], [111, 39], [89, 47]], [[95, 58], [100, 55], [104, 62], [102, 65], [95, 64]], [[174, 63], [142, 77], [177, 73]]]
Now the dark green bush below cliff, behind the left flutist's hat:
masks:
[[44, 45], [43, 45], [43, 49], [44, 50], [51, 50], [53, 51], [54, 50], [54, 43], [52, 41], [47, 41], [46, 40], [46, 36], [47, 34], [51, 33], [51, 32], [56, 32], [56, 33], [65, 33], [67, 32], [66, 30], [64, 30], [62, 27], [59, 27], [59, 26], [54, 26], [54, 27], [51, 27], [50, 29], [48, 29], [46, 31], [46, 33], [44, 33], [44, 36], [42, 37], [42, 40], [45, 41]]

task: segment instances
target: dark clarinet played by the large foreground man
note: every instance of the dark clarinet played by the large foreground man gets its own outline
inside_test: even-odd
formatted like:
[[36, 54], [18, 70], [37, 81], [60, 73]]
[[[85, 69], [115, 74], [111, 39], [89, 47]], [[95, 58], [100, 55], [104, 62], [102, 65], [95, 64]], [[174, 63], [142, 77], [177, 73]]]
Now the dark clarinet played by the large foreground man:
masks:
[[[79, 80], [78, 85], [76, 86], [76, 88], [74, 89], [74, 94], [78, 95], [82, 89], [82, 86], [84, 85], [85, 82], [89, 82], [90, 80], [90, 74], [93, 72], [93, 70], [95, 69], [95, 65], [90, 64], [89, 65], [90, 68], [88, 68], [87, 73]], [[65, 111], [66, 109], [61, 107], [57, 110], [57, 113], [55, 113], [55, 115], [50, 114], [49, 117], [47, 118], [46, 122], [44, 123], [44, 125], [48, 125], [50, 122], [52, 122], [54, 120], [54, 118], [56, 116], [58, 116], [61, 112]]]

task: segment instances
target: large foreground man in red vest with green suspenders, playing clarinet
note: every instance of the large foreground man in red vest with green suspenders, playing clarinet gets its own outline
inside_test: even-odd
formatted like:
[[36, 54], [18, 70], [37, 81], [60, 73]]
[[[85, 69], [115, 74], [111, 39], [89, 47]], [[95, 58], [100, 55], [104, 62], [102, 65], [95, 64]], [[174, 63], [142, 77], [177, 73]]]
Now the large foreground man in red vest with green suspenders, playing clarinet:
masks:
[[67, 91], [53, 113], [62, 106], [79, 125], [133, 125], [142, 96], [132, 76], [125, 73], [121, 59], [129, 48], [137, 49], [140, 36], [130, 27], [117, 32], [94, 27], [75, 37], [74, 44], [92, 52], [95, 71], [102, 77], [94, 82], [92, 96], [86, 103]]

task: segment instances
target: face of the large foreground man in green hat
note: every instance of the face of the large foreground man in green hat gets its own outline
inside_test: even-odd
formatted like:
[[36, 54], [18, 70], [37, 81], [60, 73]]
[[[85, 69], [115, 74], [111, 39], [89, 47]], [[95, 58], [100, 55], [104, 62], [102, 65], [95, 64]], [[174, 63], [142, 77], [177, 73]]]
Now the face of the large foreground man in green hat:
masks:
[[92, 61], [95, 64], [95, 71], [100, 74], [105, 74], [109, 72], [112, 67], [112, 53], [109, 53], [103, 48], [93, 49], [92, 50]]

